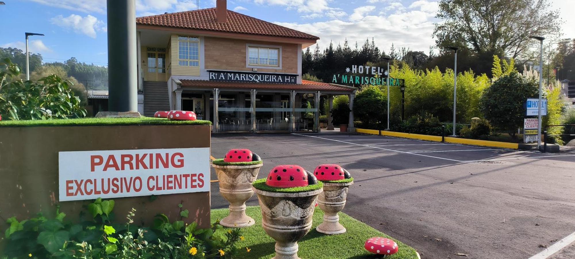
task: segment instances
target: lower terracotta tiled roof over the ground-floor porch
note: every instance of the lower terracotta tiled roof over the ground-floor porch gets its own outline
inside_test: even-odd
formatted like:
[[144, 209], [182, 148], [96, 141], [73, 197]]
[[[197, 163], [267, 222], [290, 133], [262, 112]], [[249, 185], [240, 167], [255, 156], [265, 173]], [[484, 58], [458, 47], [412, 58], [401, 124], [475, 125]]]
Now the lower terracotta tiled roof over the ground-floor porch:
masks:
[[241, 89], [277, 89], [277, 90], [314, 90], [314, 91], [346, 91], [352, 92], [356, 88], [302, 80], [300, 84], [290, 83], [244, 83], [220, 82], [208, 80], [180, 79], [182, 86], [208, 87], [208, 88], [241, 88]]

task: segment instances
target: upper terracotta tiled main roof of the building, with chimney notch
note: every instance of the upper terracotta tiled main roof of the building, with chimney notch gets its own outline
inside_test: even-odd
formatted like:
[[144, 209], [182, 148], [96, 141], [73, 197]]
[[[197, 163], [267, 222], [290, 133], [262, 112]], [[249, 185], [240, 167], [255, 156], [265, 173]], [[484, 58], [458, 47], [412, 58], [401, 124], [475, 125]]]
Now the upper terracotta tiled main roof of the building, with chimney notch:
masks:
[[218, 32], [246, 33], [252, 35], [291, 37], [308, 40], [320, 39], [319, 37], [309, 35], [308, 33], [279, 26], [271, 22], [262, 21], [231, 10], [228, 10], [227, 22], [217, 22], [216, 8], [138, 17], [136, 18], [136, 24]]

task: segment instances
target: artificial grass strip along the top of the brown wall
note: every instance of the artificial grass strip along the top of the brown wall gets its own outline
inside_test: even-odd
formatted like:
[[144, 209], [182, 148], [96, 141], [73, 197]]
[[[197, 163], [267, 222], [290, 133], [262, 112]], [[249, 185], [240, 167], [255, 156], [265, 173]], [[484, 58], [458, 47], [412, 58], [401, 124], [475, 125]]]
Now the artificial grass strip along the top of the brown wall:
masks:
[[0, 127], [74, 127], [114, 125], [212, 125], [212, 122], [209, 120], [168, 120], [166, 118], [155, 117], [0, 121]]

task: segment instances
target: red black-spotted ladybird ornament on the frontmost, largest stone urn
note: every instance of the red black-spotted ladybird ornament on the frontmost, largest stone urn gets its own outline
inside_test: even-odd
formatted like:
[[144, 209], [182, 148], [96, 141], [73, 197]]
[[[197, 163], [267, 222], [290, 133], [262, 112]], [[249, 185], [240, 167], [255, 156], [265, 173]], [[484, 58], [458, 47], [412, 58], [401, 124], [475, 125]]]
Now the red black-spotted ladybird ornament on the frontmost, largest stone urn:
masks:
[[271, 169], [266, 184], [278, 188], [303, 187], [316, 184], [313, 174], [298, 165], [279, 165]]

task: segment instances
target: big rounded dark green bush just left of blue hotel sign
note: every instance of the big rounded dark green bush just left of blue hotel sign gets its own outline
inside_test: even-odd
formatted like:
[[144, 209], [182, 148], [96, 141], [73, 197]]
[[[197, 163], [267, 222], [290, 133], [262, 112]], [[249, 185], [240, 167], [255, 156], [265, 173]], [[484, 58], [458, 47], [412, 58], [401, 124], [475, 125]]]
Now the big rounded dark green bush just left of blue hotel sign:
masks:
[[527, 98], [538, 96], [539, 83], [517, 73], [503, 75], [485, 92], [480, 100], [481, 112], [495, 127], [507, 130], [515, 137], [522, 127]]

